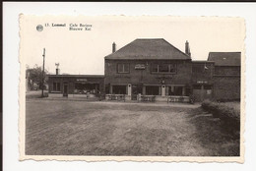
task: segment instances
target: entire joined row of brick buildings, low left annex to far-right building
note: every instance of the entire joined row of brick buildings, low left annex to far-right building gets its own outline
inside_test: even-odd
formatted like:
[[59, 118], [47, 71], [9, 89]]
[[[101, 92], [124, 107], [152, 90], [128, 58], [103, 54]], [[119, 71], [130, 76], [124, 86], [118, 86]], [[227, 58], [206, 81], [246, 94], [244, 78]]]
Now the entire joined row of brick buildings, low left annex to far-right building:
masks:
[[138, 95], [157, 101], [188, 102], [204, 99], [240, 98], [240, 52], [210, 52], [206, 61], [192, 61], [189, 43], [185, 52], [163, 38], [135, 39], [104, 57], [104, 75], [50, 75], [52, 96], [96, 94], [122, 95], [138, 100]]

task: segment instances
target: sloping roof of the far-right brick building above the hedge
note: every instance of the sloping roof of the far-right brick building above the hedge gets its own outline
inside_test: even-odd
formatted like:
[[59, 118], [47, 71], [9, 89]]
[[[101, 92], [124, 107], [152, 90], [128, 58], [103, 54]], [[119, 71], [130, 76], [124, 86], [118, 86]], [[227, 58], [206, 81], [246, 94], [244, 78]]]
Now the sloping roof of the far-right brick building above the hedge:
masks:
[[210, 52], [208, 61], [215, 66], [241, 66], [241, 52]]

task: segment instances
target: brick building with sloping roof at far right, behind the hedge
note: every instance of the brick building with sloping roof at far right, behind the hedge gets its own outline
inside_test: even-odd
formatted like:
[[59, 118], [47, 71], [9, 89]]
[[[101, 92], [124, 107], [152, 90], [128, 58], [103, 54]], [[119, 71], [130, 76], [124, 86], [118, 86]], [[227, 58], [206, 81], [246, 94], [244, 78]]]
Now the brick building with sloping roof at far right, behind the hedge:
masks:
[[215, 63], [214, 98], [239, 100], [241, 81], [241, 52], [210, 52], [208, 61]]

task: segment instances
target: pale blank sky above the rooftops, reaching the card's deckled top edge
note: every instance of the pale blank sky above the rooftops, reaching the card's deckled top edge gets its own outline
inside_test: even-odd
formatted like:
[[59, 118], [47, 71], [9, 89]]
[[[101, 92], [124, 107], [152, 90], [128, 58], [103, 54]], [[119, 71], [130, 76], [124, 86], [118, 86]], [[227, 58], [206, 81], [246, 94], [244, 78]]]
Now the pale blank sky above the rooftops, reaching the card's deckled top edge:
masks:
[[103, 75], [113, 42], [118, 50], [136, 38], [164, 38], [184, 52], [188, 40], [192, 60], [207, 60], [209, 52], [243, 51], [245, 38], [242, 19], [220, 17], [21, 16], [20, 28], [27, 66], [42, 66], [45, 48], [47, 71], [54, 74], [59, 63], [60, 74], [73, 75]]

